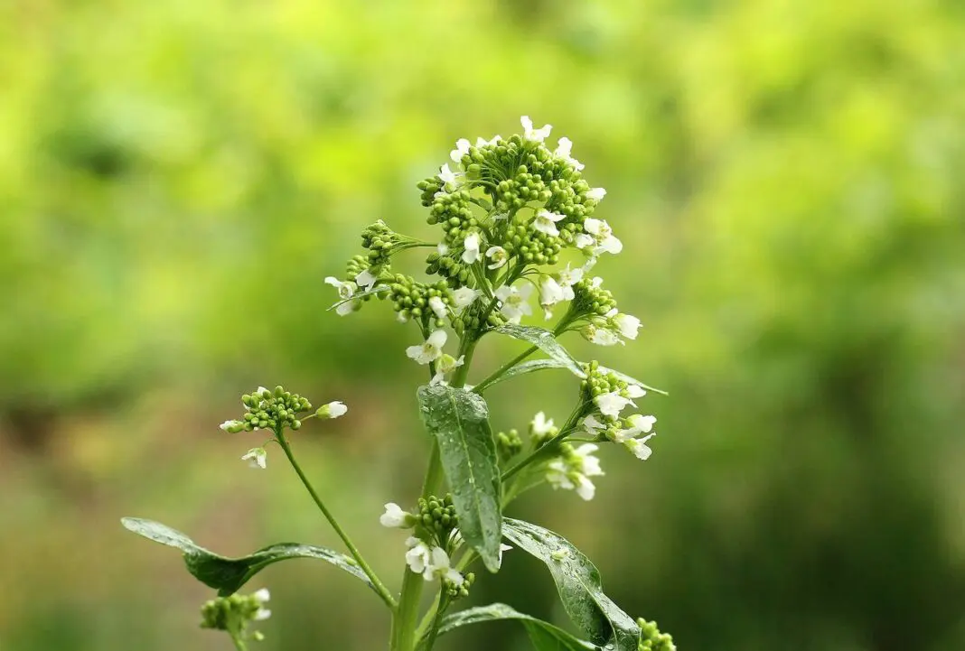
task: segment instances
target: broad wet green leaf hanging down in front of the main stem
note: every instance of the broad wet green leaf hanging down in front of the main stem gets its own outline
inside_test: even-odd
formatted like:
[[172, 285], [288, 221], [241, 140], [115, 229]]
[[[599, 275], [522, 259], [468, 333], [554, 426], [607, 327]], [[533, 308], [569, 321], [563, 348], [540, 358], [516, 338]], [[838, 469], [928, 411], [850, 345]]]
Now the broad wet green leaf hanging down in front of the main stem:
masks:
[[419, 388], [419, 411], [439, 444], [459, 532], [479, 552], [486, 568], [496, 572], [503, 518], [496, 445], [487, 420], [489, 408], [476, 393], [436, 385]]

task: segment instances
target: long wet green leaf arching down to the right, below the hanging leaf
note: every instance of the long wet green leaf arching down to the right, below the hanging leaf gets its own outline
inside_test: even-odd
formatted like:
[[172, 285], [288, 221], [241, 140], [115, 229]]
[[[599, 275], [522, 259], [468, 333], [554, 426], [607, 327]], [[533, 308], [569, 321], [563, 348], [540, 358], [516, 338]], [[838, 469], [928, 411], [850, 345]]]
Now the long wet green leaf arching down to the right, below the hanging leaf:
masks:
[[615, 651], [637, 651], [640, 627], [603, 593], [599, 572], [589, 558], [563, 536], [522, 520], [506, 518], [503, 533], [546, 564], [566, 614], [594, 643], [614, 644]]

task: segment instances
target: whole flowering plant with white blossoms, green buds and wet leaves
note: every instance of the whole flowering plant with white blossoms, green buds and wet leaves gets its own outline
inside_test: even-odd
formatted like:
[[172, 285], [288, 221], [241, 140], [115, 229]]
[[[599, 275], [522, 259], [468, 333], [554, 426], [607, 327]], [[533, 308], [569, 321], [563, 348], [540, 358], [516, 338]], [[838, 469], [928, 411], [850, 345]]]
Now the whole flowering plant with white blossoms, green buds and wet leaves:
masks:
[[[437, 637], [455, 628], [495, 619], [519, 621], [538, 650], [675, 648], [655, 625], [620, 610], [603, 592], [593, 563], [565, 538], [504, 515], [523, 491], [541, 484], [592, 500], [593, 477], [603, 475], [595, 456], [601, 445], [615, 445], [647, 460], [656, 419], [624, 412], [648, 391], [662, 393], [595, 361], [577, 362], [558, 340], [577, 332], [597, 344], [619, 344], [636, 339], [640, 321], [619, 312], [602, 279], [591, 276], [599, 256], [622, 248], [609, 224], [593, 217], [606, 192], [583, 179], [583, 165], [572, 157], [567, 138], [551, 150], [544, 144], [550, 125], [534, 128], [527, 117], [522, 125], [523, 133], [509, 139], [480, 138], [475, 146], [459, 140], [451, 153], [453, 166], [447, 163], [419, 183], [427, 221], [440, 228], [440, 241], [403, 235], [379, 221], [362, 233], [368, 254], [349, 260], [344, 278], [325, 279], [338, 291], [340, 300], [333, 306], [337, 313], [355, 312], [374, 298], [388, 303], [401, 322], [415, 323], [420, 335], [420, 342], [405, 354], [428, 370], [427, 384], [418, 391], [422, 420], [431, 435], [426, 479], [422, 495], [408, 502], [408, 508], [388, 502], [380, 517], [383, 526], [408, 531], [404, 553], [400, 546], [405, 563], [400, 592], [375, 575], [290, 447], [290, 436], [306, 420], [344, 416], [347, 408], [339, 401], [313, 411], [297, 393], [259, 387], [242, 397], [243, 417], [226, 420], [221, 428], [233, 434], [268, 434], [266, 444], [241, 458], [264, 468], [266, 447], [281, 448], [342, 538], [347, 555], [283, 543], [227, 558], [175, 529], [124, 518], [127, 529], [178, 548], [189, 572], [218, 590], [218, 597], [202, 610], [202, 625], [226, 631], [236, 648], [245, 649], [249, 639], [262, 637], [249, 633], [248, 627], [269, 614], [263, 608], [267, 590], [249, 596], [237, 590], [268, 564], [294, 557], [325, 560], [366, 583], [391, 613], [393, 651], [430, 651]], [[422, 247], [431, 249], [426, 271], [436, 282], [393, 272], [397, 254]], [[546, 320], [555, 312], [562, 314], [552, 329], [521, 324], [533, 314], [534, 292]], [[455, 345], [447, 328], [455, 334]], [[489, 335], [521, 339], [530, 346], [470, 386], [466, 381], [473, 354]], [[543, 357], [528, 360], [538, 351]], [[540, 412], [525, 437], [516, 429], [494, 433], [485, 391], [548, 368], [565, 369], [579, 380], [575, 407], [564, 423], [557, 426]], [[444, 484], [448, 492], [443, 492]], [[470, 566], [479, 560], [489, 572], [498, 572], [503, 554], [513, 548], [545, 563], [578, 635], [503, 604], [451, 611], [476, 581]], [[435, 598], [421, 614], [427, 588], [435, 590]]]

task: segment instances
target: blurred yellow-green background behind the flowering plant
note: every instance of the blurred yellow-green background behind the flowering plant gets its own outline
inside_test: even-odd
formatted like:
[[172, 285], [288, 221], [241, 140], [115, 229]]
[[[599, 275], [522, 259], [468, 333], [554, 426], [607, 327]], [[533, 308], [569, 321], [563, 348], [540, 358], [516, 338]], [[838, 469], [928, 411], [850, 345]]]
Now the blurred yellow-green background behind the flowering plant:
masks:
[[[963, 42], [958, 0], [0, 4], [0, 649], [229, 648], [123, 515], [337, 546], [277, 450], [247, 470], [261, 440], [217, 428], [259, 384], [348, 403], [297, 452], [398, 587], [377, 516], [423, 473], [416, 331], [326, 312], [322, 279], [376, 219], [433, 234], [415, 183], [522, 114], [607, 188], [597, 269], [644, 321], [567, 345], [671, 396], [646, 464], [607, 450], [594, 502], [513, 514], [681, 649], [965, 648]], [[485, 341], [475, 379], [517, 349]], [[502, 385], [494, 426], [575, 391]], [[505, 567], [474, 601], [565, 621], [538, 563]], [[333, 568], [262, 585], [259, 648], [384, 648]]]

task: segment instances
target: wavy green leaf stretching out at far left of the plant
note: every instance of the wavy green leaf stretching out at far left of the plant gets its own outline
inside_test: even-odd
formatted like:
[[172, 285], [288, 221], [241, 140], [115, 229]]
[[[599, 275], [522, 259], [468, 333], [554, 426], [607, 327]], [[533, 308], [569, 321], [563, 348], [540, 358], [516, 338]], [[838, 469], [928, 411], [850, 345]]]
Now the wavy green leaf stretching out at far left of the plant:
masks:
[[218, 590], [218, 594], [221, 596], [237, 592], [238, 588], [248, 583], [252, 577], [268, 565], [289, 558], [319, 558], [342, 568], [345, 572], [362, 580], [374, 589], [369, 577], [366, 576], [353, 558], [323, 547], [300, 543], [278, 543], [265, 547], [250, 556], [227, 558], [195, 544], [193, 540], [179, 530], [171, 529], [153, 520], [122, 518], [121, 524], [126, 529], [143, 535], [149, 540], [178, 548], [183, 552], [187, 571], [201, 583]]

